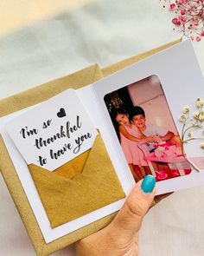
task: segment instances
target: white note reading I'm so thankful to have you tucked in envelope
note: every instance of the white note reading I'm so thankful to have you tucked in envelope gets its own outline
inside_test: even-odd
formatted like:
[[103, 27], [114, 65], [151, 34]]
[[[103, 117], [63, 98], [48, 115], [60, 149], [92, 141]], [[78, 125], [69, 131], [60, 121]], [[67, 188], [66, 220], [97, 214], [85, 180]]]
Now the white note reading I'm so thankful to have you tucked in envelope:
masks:
[[92, 148], [97, 135], [73, 89], [17, 116], [6, 130], [28, 165], [50, 171]]

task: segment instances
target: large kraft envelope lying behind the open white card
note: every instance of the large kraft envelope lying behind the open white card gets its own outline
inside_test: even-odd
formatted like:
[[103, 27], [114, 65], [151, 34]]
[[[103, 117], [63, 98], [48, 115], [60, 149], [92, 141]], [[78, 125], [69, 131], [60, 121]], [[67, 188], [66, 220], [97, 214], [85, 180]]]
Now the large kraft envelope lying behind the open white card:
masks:
[[[113, 64], [105, 69], [99, 69], [97, 64], [80, 70], [72, 75], [67, 75], [56, 81], [45, 83], [35, 89], [29, 89], [19, 95], [11, 96], [10, 98], [4, 99], [0, 102], [0, 116], [9, 115], [12, 112], [27, 108], [36, 103], [47, 100], [48, 98], [60, 93], [68, 87], [78, 89], [82, 86], [97, 81], [103, 76], [111, 75], [112, 73], [123, 69], [134, 62], [138, 62], [147, 56], [151, 56], [160, 50], [166, 49], [175, 43], [181, 42], [181, 39], [175, 42], [167, 43], [156, 49], [151, 49], [139, 56], [133, 56], [122, 62]], [[69, 233], [58, 240], [54, 240], [48, 244], [42, 237], [40, 227], [35, 220], [34, 213], [29, 206], [29, 201], [23, 191], [21, 182], [18, 179], [16, 170], [10, 160], [2, 138], [0, 138], [0, 169], [3, 174], [3, 179], [10, 190], [10, 194], [16, 204], [19, 214], [21, 215], [24, 226], [29, 233], [29, 237], [35, 247], [35, 252], [39, 256], [45, 256], [60, 250], [61, 248], [72, 244], [73, 242], [80, 240], [91, 233], [97, 232], [99, 229], [107, 226], [115, 217], [116, 213], [112, 213], [103, 219], [92, 222], [91, 224], [84, 226], [73, 233]]]

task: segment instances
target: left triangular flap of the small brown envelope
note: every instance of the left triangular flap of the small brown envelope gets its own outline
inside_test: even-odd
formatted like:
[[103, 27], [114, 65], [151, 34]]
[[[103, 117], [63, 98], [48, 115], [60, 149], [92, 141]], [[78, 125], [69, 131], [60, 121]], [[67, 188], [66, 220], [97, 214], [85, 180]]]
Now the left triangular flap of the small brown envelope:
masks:
[[35, 187], [41, 198], [43, 207], [48, 214], [48, 219], [52, 220], [56, 208], [61, 204], [70, 181], [54, 172], [38, 167], [34, 164], [29, 165], [29, 171], [35, 182]]

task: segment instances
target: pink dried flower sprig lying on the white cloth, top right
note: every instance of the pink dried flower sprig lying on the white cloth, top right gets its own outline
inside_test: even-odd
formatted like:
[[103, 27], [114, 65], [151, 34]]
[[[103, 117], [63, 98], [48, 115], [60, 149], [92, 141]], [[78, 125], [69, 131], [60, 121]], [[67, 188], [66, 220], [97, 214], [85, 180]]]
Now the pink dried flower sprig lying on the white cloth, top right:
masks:
[[186, 36], [197, 42], [204, 36], [204, 0], [160, 0], [163, 8], [175, 13], [172, 19], [175, 28]]

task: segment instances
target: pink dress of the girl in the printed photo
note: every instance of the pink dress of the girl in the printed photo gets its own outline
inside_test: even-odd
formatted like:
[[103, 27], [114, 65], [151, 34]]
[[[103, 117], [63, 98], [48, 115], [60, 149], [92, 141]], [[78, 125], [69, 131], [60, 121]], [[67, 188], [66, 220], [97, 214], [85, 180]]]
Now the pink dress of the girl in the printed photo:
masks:
[[[139, 137], [137, 127], [135, 125], [131, 125], [131, 128], [127, 126], [125, 126], [124, 128], [129, 133], [129, 135], [132, 135], [137, 138]], [[126, 161], [129, 164], [137, 165], [139, 167], [148, 166], [147, 162], [143, 160], [143, 152], [141, 149], [137, 147], [138, 143], [136, 141], [131, 141], [120, 133], [120, 142], [121, 147], [124, 151]]]

